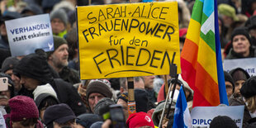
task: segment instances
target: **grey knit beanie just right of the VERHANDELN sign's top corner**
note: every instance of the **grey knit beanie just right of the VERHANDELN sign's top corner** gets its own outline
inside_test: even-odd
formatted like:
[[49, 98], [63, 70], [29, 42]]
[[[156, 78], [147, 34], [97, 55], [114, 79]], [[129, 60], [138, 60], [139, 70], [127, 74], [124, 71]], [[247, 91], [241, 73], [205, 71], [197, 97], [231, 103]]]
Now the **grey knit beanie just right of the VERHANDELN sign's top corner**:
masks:
[[50, 21], [52, 21], [55, 18], [58, 18], [60, 21], [63, 21], [64, 25], [67, 26], [69, 20], [64, 9], [58, 9], [50, 12]]

